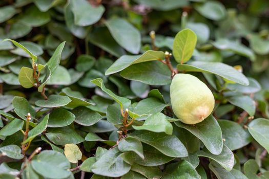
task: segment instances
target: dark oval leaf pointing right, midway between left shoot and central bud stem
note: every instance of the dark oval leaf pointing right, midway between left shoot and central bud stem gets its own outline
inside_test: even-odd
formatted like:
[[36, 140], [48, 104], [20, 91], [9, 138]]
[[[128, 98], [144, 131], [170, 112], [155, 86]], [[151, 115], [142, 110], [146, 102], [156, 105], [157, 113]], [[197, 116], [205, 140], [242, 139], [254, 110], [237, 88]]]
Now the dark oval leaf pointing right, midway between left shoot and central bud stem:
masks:
[[75, 122], [83, 126], [91, 126], [102, 119], [102, 116], [84, 106], [76, 107], [72, 110], [75, 115]]

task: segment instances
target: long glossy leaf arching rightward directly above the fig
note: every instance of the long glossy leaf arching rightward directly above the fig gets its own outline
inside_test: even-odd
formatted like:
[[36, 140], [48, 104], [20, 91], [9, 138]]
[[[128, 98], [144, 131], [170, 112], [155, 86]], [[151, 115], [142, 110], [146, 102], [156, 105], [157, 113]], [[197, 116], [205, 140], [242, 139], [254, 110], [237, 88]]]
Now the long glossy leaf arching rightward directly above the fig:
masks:
[[186, 72], [212, 73], [242, 85], [249, 85], [249, 80], [242, 73], [221, 62], [193, 61], [190, 64], [178, 64], [177, 69]]

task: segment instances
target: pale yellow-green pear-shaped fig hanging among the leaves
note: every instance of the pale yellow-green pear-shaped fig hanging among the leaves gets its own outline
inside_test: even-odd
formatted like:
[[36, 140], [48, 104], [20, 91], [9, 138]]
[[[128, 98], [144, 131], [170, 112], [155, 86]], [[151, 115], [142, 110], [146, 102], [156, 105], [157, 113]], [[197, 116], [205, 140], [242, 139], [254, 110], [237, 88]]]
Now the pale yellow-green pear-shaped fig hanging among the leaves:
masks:
[[201, 80], [189, 74], [177, 74], [170, 86], [174, 114], [185, 124], [202, 122], [211, 113], [215, 99]]

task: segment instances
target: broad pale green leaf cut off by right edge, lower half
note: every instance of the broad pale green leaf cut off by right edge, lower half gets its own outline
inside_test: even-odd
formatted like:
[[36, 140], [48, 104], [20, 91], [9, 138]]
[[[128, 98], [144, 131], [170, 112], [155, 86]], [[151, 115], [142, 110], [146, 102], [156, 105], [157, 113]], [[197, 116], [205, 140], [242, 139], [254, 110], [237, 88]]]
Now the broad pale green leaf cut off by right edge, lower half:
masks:
[[269, 120], [258, 118], [253, 120], [247, 127], [252, 137], [269, 152]]

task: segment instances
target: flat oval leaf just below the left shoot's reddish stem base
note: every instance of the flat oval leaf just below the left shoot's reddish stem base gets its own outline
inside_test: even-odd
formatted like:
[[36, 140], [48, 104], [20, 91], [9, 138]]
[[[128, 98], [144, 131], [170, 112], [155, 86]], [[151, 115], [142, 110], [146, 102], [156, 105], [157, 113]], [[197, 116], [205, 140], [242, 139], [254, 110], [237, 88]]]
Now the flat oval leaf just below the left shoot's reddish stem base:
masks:
[[71, 100], [67, 96], [61, 96], [61, 95], [50, 95], [47, 100], [39, 99], [35, 102], [35, 105], [39, 107], [60, 107], [65, 106], [68, 103], [70, 103]]

